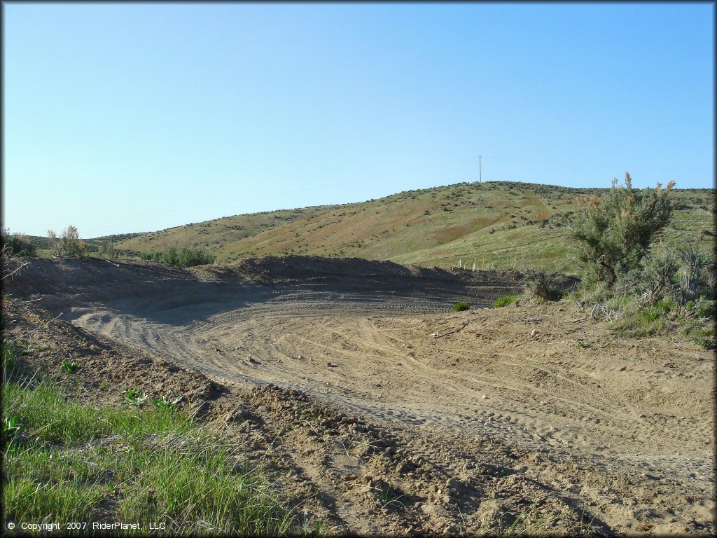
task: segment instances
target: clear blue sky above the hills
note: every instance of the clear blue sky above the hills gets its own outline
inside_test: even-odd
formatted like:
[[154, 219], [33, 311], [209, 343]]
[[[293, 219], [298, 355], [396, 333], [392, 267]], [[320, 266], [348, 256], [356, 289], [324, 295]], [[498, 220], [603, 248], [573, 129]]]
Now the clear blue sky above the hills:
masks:
[[3, 225], [478, 180], [713, 187], [715, 6], [4, 3]]

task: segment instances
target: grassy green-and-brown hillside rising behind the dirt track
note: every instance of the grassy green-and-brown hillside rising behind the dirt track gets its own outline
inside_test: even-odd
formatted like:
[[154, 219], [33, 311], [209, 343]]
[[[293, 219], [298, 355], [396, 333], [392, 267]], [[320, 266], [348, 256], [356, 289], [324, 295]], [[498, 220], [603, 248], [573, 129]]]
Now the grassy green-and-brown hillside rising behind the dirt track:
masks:
[[[462, 258], [479, 268], [530, 265], [574, 268], [569, 225], [576, 195], [607, 189], [571, 189], [495, 181], [401, 192], [354, 204], [285, 209], [223, 217], [131, 237], [121, 250], [201, 245], [220, 262], [256, 255], [324, 255], [447, 267]], [[675, 189], [668, 241], [713, 230], [713, 189]]]

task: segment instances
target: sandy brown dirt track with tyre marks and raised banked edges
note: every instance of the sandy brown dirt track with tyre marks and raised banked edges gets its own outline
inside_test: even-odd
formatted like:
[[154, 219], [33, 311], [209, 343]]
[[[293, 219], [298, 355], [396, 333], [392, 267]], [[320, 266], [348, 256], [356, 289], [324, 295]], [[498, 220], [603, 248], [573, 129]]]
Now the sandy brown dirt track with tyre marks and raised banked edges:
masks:
[[270, 453], [329, 531], [485, 532], [523, 514], [531, 532], [714, 532], [711, 354], [618, 337], [574, 302], [487, 308], [516, 278], [32, 260], [4, 306], [17, 334], [54, 339], [38, 361], [75, 353], [95, 385], [184, 395]]

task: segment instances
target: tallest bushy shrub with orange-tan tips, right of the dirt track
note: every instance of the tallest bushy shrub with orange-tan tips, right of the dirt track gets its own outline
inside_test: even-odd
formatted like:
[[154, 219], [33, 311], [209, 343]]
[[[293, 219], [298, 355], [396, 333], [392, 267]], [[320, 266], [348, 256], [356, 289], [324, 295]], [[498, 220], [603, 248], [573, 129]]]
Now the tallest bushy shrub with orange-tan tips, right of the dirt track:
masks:
[[663, 189], [633, 189], [630, 174], [625, 185], [612, 181], [612, 188], [599, 199], [578, 197], [573, 236], [579, 242], [579, 259], [587, 273], [614, 285], [622, 273], [639, 267], [652, 239], [672, 217], [669, 193]]

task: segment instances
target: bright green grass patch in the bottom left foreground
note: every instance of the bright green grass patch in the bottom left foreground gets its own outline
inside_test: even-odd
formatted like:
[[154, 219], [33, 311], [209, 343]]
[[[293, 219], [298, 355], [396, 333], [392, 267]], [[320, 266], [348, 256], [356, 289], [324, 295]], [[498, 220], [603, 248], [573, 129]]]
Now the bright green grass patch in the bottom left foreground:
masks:
[[3, 501], [18, 526], [137, 522], [130, 534], [147, 534], [153, 523], [168, 535], [291, 529], [265, 476], [239, 466], [226, 440], [172, 405], [90, 407], [47, 379], [11, 375], [4, 415]]

